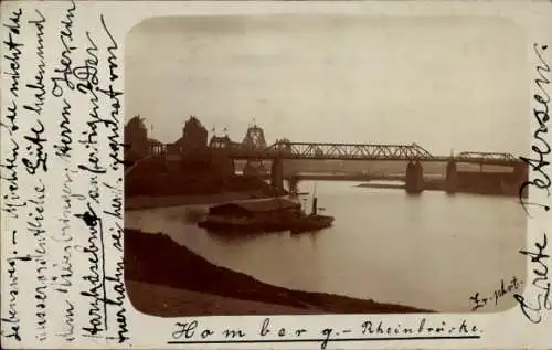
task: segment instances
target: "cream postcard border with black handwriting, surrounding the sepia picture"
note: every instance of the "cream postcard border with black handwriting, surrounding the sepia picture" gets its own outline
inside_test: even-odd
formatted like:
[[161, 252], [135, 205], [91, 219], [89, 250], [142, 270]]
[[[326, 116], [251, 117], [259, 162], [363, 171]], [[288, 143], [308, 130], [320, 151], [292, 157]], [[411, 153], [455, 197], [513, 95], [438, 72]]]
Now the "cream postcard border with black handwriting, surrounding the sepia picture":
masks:
[[[9, 23], [10, 13], [15, 11], [18, 8], [23, 9], [25, 14], [30, 17], [34, 12], [34, 9], [40, 9], [45, 18], [47, 18], [47, 24], [45, 24], [44, 42], [45, 44], [45, 62], [46, 66], [56, 66], [60, 57], [59, 53], [63, 50], [62, 42], [59, 38], [59, 31], [61, 30], [60, 21], [66, 15], [66, 9], [71, 7], [70, 2], [61, 1], [8, 1], [2, 2], [2, 23]], [[174, 15], [232, 15], [232, 14], [276, 14], [276, 13], [342, 13], [351, 15], [397, 15], [397, 17], [489, 17], [489, 18], [505, 18], [509, 19], [516, 23], [527, 38], [527, 57], [529, 66], [527, 67], [530, 79], [527, 82], [528, 98], [531, 98], [531, 108], [541, 108], [533, 95], [539, 94], [539, 86], [535, 84], [535, 79], [539, 78], [539, 73], [537, 72], [537, 66], [542, 66], [538, 55], [535, 55], [533, 43], [539, 45], [552, 45], [552, 3], [550, 1], [365, 1], [365, 2], [280, 2], [280, 1], [246, 1], [246, 2], [201, 2], [201, 1], [190, 1], [190, 2], [178, 2], [178, 1], [120, 1], [120, 2], [109, 2], [109, 1], [82, 1], [76, 3], [77, 10], [75, 11], [75, 17], [73, 19], [73, 34], [75, 46], [86, 45], [85, 33], [88, 31], [93, 34], [98, 33], [98, 35], [104, 35], [103, 47], [105, 49], [109, 45], [107, 39], [105, 39], [105, 31], [102, 29], [100, 15], [104, 17], [105, 23], [109, 28], [109, 32], [113, 38], [115, 38], [119, 49], [117, 50], [117, 61], [118, 61], [118, 72], [120, 76], [116, 82], [114, 82], [114, 88], [124, 92], [124, 79], [125, 79], [125, 68], [124, 68], [124, 57], [125, 57], [125, 41], [127, 33], [138, 25], [141, 21], [153, 18], [153, 17], [174, 17]], [[29, 24], [21, 23], [29, 28]], [[7, 38], [7, 29], [2, 28], [2, 38]], [[99, 33], [102, 32], [102, 33]], [[26, 33], [26, 34], [25, 34]], [[21, 41], [33, 44], [35, 36], [31, 31], [22, 32], [20, 34]], [[34, 50], [34, 49], [33, 49]], [[552, 64], [552, 47], [544, 51], [543, 59], [549, 64]], [[84, 62], [85, 52], [81, 49], [76, 50], [74, 53], [75, 62]], [[2, 55], [4, 55], [4, 47], [2, 46]], [[28, 51], [23, 52], [21, 59], [21, 75], [24, 77], [32, 78], [34, 71], [36, 70], [36, 56], [33, 56]], [[1, 61], [2, 72], [9, 71], [9, 62], [6, 59]], [[98, 75], [102, 78], [108, 77], [109, 70], [108, 63], [102, 63], [102, 70]], [[550, 72], [541, 71], [542, 74], [552, 77]], [[7, 124], [7, 106], [10, 100], [10, 89], [11, 77], [3, 74], [2, 75], [2, 123]], [[552, 85], [544, 86], [548, 94], [552, 94]], [[73, 109], [71, 112], [72, 116], [76, 118], [82, 118], [81, 116], [86, 116], [89, 113], [89, 103], [87, 98], [83, 96], [73, 95], [72, 97], [75, 102], [73, 103]], [[20, 97], [20, 98], [25, 98]], [[26, 98], [32, 98], [28, 95]], [[121, 104], [124, 102], [124, 95], [121, 98]], [[59, 114], [60, 114], [61, 102], [47, 103], [44, 110], [50, 112], [44, 114], [44, 120], [50, 120], [44, 123], [45, 125], [57, 125]], [[109, 110], [108, 103], [105, 103], [102, 108], [104, 112]], [[124, 126], [125, 109], [124, 104], [119, 110], [120, 118], [120, 135], [119, 141], [123, 142], [123, 126]], [[528, 137], [531, 138], [533, 142], [533, 132], [539, 129], [538, 120], [533, 117], [532, 110], [527, 112], [524, 116], [531, 120], [530, 130], [520, 130], [520, 132], [527, 132]], [[21, 117], [19, 119], [21, 129], [25, 129], [25, 121]], [[29, 121], [31, 123], [31, 121]], [[82, 125], [81, 125], [82, 124]], [[75, 121], [74, 135], [77, 135], [81, 130], [86, 127], [84, 121]], [[10, 134], [2, 128], [1, 131], [1, 159], [4, 161], [10, 156], [11, 141]], [[59, 130], [55, 128], [47, 128], [45, 138], [57, 137]], [[14, 132], [15, 135], [15, 132]], [[13, 136], [18, 140], [22, 140], [23, 134], [17, 134]], [[546, 135], [548, 142], [552, 141], [552, 138]], [[52, 147], [52, 146], [49, 146]], [[539, 144], [541, 147], [542, 144]], [[102, 145], [98, 148], [103, 157], [108, 158], [109, 148], [108, 145]], [[51, 148], [51, 151], [55, 150]], [[517, 155], [518, 156], [518, 155]], [[535, 157], [535, 153], [519, 155], [523, 157]], [[75, 146], [73, 156], [74, 159], [84, 159], [87, 157], [87, 150], [84, 147]], [[549, 159], [549, 155], [544, 156]], [[51, 171], [44, 173], [42, 181], [49, 190], [49, 198], [45, 204], [46, 216], [44, 224], [47, 232], [60, 231], [61, 224], [56, 219], [62, 212], [61, 206], [61, 193], [63, 192], [62, 185], [60, 183], [60, 171], [66, 167], [61, 160], [51, 157], [52, 167]], [[73, 160], [70, 160], [73, 163]], [[106, 181], [113, 180], [116, 182], [116, 178], [123, 174], [123, 168], [117, 171], [112, 171], [105, 174]], [[548, 173], [549, 167], [542, 167], [541, 170]], [[23, 169], [21, 168], [20, 177], [20, 195], [21, 198], [31, 198], [33, 195], [33, 187], [36, 187], [35, 176], [24, 176]], [[75, 174], [74, 192], [88, 192], [88, 183], [84, 177]], [[530, 181], [534, 181], [542, 177], [542, 173], [532, 170], [529, 174]], [[34, 181], [34, 182], [33, 182]], [[123, 183], [119, 183], [120, 189]], [[1, 182], [2, 193], [9, 190], [9, 182]], [[539, 190], [537, 187], [530, 189], [529, 202], [541, 203], [542, 205], [550, 205], [551, 199], [546, 190]], [[108, 205], [108, 199], [105, 199], [104, 205]], [[7, 201], [2, 200], [2, 208], [4, 208]], [[76, 210], [76, 209], [75, 209]], [[81, 213], [83, 209], [79, 209]], [[530, 218], [528, 223], [528, 250], [535, 247], [535, 244], [542, 243], [543, 233], [546, 232], [548, 227], [551, 227], [551, 215], [549, 212], [539, 210], [538, 208], [531, 208], [532, 218]], [[123, 226], [123, 220], [118, 221], [120, 226]], [[13, 230], [24, 230], [25, 223], [21, 219], [12, 219], [7, 213], [1, 214], [1, 232], [2, 232], [2, 318], [8, 318], [7, 310], [10, 305], [10, 276], [8, 269], [10, 267], [10, 258], [13, 257], [13, 247], [11, 245], [11, 237], [9, 233]], [[77, 229], [79, 227], [79, 229]], [[73, 230], [85, 231], [84, 226], [74, 225]], [[85, 240], [78, 238], [77, 234], [84, 232], [75, 231], [75, 244], [85, 245]], [[81, 234], [82, 236], [82, 234]], [[25, 241], [28, 240], [28, 241]], [[78, 241], [81, 240], [81, 241]], [[33, 246], [35, 243], [31, 242], [32, 237], [21, 238], [20, 246]], [[26, 242], [26, 243], [25, 243]], [[77, 243], [78, 242], [78, 243]], [[47, 258], [56, 256], [57, 254], [63, 254], [63, 247], [55, 245], [55, 243], [49, 243], [49, 255]], [[526, 247], [520, 247], [523, 250]], [[115, 248], [107, 248], [105, 251], [106, 261], [109, 266], [115, 268], [116, 263], [123, 258], [123, 253]], [[519, 254], [519, 252], [509, 252], [508, 254]], [[505, 253], [507, 254], [507, 253]], [[552, 255], [552, 250], [550, 246], [545, 251], [545, 254]], [[15, 341], [13, 337], [9, 337], [10, 327], [13, 322], [2, 321], [2, 347], [6, 348], [193, 348], [193, 349], [221, 349], [221, 348], [248, 348], [256, 349], [259, 347], [270, 347], [270, 348], [282, 348], [282, 349], [315, 349], [321, 346], [326, 348], [350, 348], [350, 349], [411, 349], [411, 348], [424, 348], [424, 349], [516, 349], [516, 348], [550, 348], [552, 346], [552, 317], [551, 310], [542, 309], [542, 321], [540, 324], [532, 324], [529, 321], [519, 307], [510, 309], [503, 312], [491, 312], [491, 314], [431, 314], [431, 315], [323, 315], [323, 316], [267, 316], [270, 318], [270, 329], [269, 335], [262, 337], [259, 335], [259, 329], [266, 317], [263, 316], [243, 316], [243, 317], [179, 317], [179, 318], [160, 318], [155, 316], [149, 316], [136, 311], [128, 298], [125, 300], [124, 308], [126, 309], [126, 326], [128, 332], [126, 340], [123, 343], [117, 342], [117, 324], [113, 321], [113, 331], [107, 337], [114, 337], [114, 339], [106, 338], [94, 338], [85, 337], [79, 328], [86, 327], [87, 317], [86, 315], [79, 314], [79, 308], [87, 308], [89, 300], [87, 300], [79, 293], [88, 288], [86, 280], [77, 278], [79, 273], [88, 268], [87, 257], [78, 257], [77, 253], [74, 253], [73, 258], [73, 271], [75, 274], [74, 285], [67, 295], [71, 295], [74, 300], [75, 306], [75, 338], [70, 340], [60, 336], [63, 329], [61, 325], [64, 320], [63, 310], [65, 310], [63, 300], [61, 297], [52, 296], [49, 299], [49, 306], [46, 308], [46, 319], [47, 331], [41, 333], [36, 329], [36, 317], [35, 317], [35, 280], [36, 280], [36, 268], [35, 266], [26, 266], [24, 263], [18, 261], [19, 268], [19, 295], [18, 295], [18, 307], [19, 307], [19, 324], [20, 325], [20, 337], [21, 341]], [[59, 256], [59, 255], [57, 255]], [[548, 268], [550, 269], [550, 259], [542, 259], [548, 262]], [[528, 257], [528, 284], [531, 279], [538, 277], [535, 276], [533, 268], [534, 263], [531, 264]], [[112, 272], [114, 273], [114, 272]], [[474, 272], [477, 273], [477, 272]], [[552, 278], [552, 277], [549, 277]], [[550, 280], [550, 279], [549, 279]], [[492, 285], [493, 282], [490, 282]], [[543, 280], [542, 283], [546, 283]], [[550, 283], [550, 282], [548, 282]], [[529, 286], [526, 288], [523, 296], [527, 300], [537, 300], [540, 289], [534, 286]], [[54, 294], [52, 291], [52, 294]], [[59, 295], [59, 294], [55, 294]], [[549, 303], [550, 299], [549, 299]], [[112, 315], [112, 314], [110, 314]], [[113, 318], [116, 316], [113, 314]], [[394, 327], [394, 325], [401, 325], [402, 328], [411, 327], [417, 329], [422, 319], [426, 320], [426, 325], [434, 325], [434, 327], [440, 327], [443, 322], [447, 327], [452, 325], [457, 325], [459, 327], [463, 321], [468, 325], [468, 328], [475, 326], [477, 331], [469, 332], [471, 338], [466, 339], [390, 339], [396, 338], [394, 336], [382, 336], [382, 335], [362, 335], [361, 325], [367, 320], [371, 320], [373, 324], [379, 324], [382, 321], [389, 327]], [[178, 332], [181, 330], [180, 324], [188, 324], [197, 321], [197, 328], [193, 336], [190, 338], [185, 337], [185, 332]], [[278, 337], [278, 329], [286, 328], [287, 332], [284, 337]], [[210, 329], [214, 333], [212, 336], [202, 338], [202, 330]], [[245, 337], [235, 339], [235, 342], [229, 341], [224, 337], [223, 331], [225, 329], [242, 329], [245, 332]], [[296, 329], [307, 329], [302, 336], [298, 337], [295, 335]], [[330, 335], [325, 329], [331, 329]], [[349, 332], [343, 332], [344, 330], [351, 330]], [[39, 338], [44, 336], [44, 340], [40, 341]], [[191, 333], [190, 333], [191, 335]], [[389, 338], [386, 338], [389, 337]], [[325, 341], [325, 338], [327, 341]], [[273, 342], [274, 340], [274, 342]], [[393, 340], [393, 341], [391, 341]], [[184, 343], [171, 343], [174, 341], [182, 341]]]

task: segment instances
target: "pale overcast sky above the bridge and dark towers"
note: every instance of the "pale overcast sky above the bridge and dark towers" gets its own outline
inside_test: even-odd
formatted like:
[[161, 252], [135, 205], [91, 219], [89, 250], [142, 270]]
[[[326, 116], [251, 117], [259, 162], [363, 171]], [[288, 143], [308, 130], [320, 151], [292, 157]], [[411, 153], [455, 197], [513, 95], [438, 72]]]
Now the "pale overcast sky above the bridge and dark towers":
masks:
[[527, 153], [526, 50], [498, 20], [159, 18], [126, 41], [126, 118], [142, 115], [164, 142], [197, 115], [240, 141], [255, 119], [268, 144]]

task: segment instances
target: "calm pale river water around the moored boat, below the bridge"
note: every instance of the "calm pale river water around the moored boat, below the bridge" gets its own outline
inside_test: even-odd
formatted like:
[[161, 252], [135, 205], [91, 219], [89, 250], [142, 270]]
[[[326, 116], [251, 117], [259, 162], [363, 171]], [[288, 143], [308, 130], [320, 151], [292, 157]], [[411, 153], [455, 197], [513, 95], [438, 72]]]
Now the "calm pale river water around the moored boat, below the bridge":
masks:
[[[128, 211], [125, 225], [164, 232], [210, 262], [287, 288], [463, 312], [475, 293], [491, 296], [523, 280], [526, 216], [514, 198], [448, 195], [317, 182], [319, 206], [335, 216], [315, 234], [231, 238], [190, 223], [198, 206]], [[299, 191], [312, 192], [312, 182]], [[307, 202], [309, 209], [309, 203]], [[155, 252], [162, 254], [162, 252]], [[479, 311], [513, 306], [511, 295]]]

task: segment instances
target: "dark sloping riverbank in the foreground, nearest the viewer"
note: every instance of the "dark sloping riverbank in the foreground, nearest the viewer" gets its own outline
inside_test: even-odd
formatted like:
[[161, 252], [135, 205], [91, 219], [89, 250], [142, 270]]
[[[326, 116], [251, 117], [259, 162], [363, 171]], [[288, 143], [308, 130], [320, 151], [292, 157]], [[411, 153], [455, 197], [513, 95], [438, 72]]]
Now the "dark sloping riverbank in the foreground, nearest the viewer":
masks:
[[[428, 312], [428, 310], [402, 305], [291, 290], [268, 285], [245, 274], [216, 266], [161, 233], [150, 234], [126, 229], [125, 262], [126, 280], [172, 288], [170, 290], [173, 294], [164, 296], [162, 290], [158, 289], [160, 295], [156, 298], [146, 297], [148, 295], [146, 285], [141, 285], [141, 289], [129, 288], [129, 297], [134, 306], [148, 314], [168, 312], [164, 306], [167, 303], [193, 303], [190, 300], [190, 298], [193, 299], [193, 294], [184, 291], [181, 294], [180, 301], [171, 299], [178, 295], [174, 289], [272, 305], [274, 312], [270, 314], [287, 315], [293, 311], [290, 308], [307, 310], [308, 314]], [[274, 306], [282, 306], [282, 308]], [[253, 308], [253, 312], [255, 311], [258, 310]], [[182, 307], [179, 308], [178, 315], [171, 314], [170, 316], [197, 316], [206, 315], [205, 312], [209, 315], [250, 315], [248, 312], [252, 311], [237, 312], [231, 308], [198, 310]]]

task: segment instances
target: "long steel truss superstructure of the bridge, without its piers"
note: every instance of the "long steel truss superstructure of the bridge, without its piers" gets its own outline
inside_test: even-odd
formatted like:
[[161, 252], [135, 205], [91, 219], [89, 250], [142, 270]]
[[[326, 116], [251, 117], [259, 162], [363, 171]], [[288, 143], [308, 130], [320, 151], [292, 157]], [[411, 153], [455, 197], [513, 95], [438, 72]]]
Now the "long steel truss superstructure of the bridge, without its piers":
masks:
[[412, 145], [363, 145], [325, 142], [275, 142], [265, 148], [246, 147], [242, 144], [211, 145], [223, 149], [232, 159], [319, 159], [319, 160], [402, 160], [486, 163], [513, 166], [520, 160], [510, 153], [460, 152], [455, 156], [433, 156], [423, 147]]

